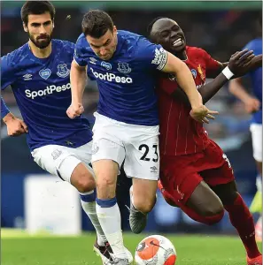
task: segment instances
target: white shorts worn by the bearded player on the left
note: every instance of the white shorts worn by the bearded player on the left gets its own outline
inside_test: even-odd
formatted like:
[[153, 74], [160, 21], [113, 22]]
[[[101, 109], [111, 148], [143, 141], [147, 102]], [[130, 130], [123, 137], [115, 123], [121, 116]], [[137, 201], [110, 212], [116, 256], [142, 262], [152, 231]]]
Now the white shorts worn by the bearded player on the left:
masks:
[[94, 175], [91, 163], [92, 141], [79, 147], [67, 148], [58, 145], [47, 145], [35, 148], [31, 153], [35, 163], [51, 175], [58, 176], [70, 183], [73, 170], [79, 163], [84, 163], [88, 170]]

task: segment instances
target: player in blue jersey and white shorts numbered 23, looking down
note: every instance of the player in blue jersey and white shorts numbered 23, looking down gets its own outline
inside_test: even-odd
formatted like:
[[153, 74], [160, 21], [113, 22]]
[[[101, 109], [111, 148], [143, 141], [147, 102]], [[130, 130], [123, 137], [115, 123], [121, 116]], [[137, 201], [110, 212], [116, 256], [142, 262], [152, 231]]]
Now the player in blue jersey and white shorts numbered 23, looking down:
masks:
[[[115, 189], [120, 165], [133, 178], [129, 223], [139, 233], [155, 204], [159, 179], [159, 117], [155, 95], [157, 70], [174, 73], [191, 104], [191, 117], [208, 122], [208, 110], [192, 74], [180, 59], [141, 35], [118, 30], [104, 11], [82, 19], [71, 67], [71, 118], [83, 112], [82, 95], [88, 66], [97, 79], [99, 102], [93, 127], [93, 169], [97, 177], [97, 216], [112, 246], [114, 264], [128, 264], [120, 228]], [[169, 115], [167, 113], [167, 115]], [[180, 117], [179, 117], [180, 118]]]

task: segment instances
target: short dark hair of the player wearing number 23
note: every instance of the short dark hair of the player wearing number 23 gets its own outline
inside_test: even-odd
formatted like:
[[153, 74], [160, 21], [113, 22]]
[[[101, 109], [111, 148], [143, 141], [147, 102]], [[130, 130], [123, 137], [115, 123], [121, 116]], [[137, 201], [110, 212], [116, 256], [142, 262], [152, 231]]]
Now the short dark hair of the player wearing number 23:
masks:
[[93, 38], [102, 37], [108, 29], [113, 32], [112, 18], [104, 11], [90, 10], [82, 19], [82, 32]]

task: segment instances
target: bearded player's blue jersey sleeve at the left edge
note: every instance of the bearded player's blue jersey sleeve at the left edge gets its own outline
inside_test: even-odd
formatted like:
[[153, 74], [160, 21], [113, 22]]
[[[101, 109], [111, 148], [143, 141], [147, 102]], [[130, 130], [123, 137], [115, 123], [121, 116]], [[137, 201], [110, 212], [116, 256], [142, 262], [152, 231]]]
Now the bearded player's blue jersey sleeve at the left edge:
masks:
[[12, 85], [16, 80], [11, 54], [1, 57], [1, 90]]

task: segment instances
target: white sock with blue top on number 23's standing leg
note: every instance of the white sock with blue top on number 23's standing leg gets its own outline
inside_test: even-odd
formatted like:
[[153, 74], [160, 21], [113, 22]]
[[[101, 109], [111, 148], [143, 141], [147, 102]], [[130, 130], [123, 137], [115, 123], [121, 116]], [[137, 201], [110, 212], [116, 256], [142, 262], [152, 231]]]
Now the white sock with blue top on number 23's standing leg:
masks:
[[110, 200], [97, 199], [96, 210], [99, 223], [112, 247], [114, 256], [127, 259], [120, 225], [120, 208], [116, 198]]

